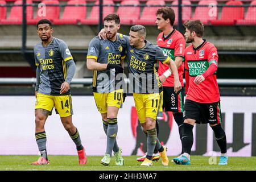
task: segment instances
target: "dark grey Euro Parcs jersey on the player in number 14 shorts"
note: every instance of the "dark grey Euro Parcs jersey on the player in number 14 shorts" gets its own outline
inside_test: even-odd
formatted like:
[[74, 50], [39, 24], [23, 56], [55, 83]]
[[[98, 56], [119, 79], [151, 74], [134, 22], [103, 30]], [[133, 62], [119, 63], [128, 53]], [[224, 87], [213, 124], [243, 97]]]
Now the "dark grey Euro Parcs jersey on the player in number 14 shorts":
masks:
[[[46, 47], [40, 42], [34, 46], [34, 55], [36, 66], [41, 69], [38, 92], [60, 96], [60, 86], [67, 78], [65, 62], [73, 59], [67, 44], [57, 38], [53, 38]], [[67, 94], [70, 94], [70, 90], [64, 95]]]

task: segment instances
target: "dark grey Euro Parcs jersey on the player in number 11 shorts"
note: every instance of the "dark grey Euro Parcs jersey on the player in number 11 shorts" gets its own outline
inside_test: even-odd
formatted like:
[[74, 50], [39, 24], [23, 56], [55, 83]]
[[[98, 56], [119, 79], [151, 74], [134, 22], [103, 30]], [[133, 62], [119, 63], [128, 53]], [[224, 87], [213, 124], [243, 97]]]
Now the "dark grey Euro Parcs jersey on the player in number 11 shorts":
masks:
[[[126, 59], [129, 68], [130, 86], [133, 93], [156, 93], [162, 91], [162, 83], [156, 71], [157, 61], [167, 63], [170, 60], [162, 49], [145, 40], [146, 45], [137, 49], [127, 44]], [[129, 90], [131, 87], [129, 87]]]

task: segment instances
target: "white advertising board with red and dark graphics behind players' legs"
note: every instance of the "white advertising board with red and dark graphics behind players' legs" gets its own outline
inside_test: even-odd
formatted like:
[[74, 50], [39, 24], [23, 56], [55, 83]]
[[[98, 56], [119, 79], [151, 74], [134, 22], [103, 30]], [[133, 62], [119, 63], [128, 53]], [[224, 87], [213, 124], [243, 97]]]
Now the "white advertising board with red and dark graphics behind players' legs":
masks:
[[[0, 155], [36, 155], [35, 96], [0, 96]], [[106, 135], [101, 115], [93, 96], [73, 96], [73, 123], [79, 129], [88, 155], [103, 155]], [[256, 156], [256, 97], [221, 97], [222, 127], [226, 132], [229, 156]], [[53, 111], [46, 122], [47, 153], [49, 155], [76, 155], [76, 148]], [[181, 151], [178, 127], [172, 113], [163, 113], [159, 119], [159, 140], [168, 147], [168, 155]], [[209, 125], [193, 129], [192, 155], [218, 156], [220, 150]], [[146, 137], [138, 123], [132, 96], [127, 96], [118, 113], [118, 145], [123, 155], [142, 155]]]

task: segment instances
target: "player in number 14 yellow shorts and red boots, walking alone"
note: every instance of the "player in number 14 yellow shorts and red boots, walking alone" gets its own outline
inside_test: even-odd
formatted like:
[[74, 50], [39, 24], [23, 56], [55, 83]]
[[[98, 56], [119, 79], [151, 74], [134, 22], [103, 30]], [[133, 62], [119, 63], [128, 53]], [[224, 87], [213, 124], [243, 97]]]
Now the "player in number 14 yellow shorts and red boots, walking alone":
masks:
[[82, 146], [79, 131], [72, 123], [72, 100], [69, 84], [75, 74], [76, 65], [71, 52], [63, 40], [52, 36], [51, 21], [41, 19], [37, 32], [42, 42], [34, 47], [36, 68], [35, 138], [40, 151], [34, 165], [49, 164], [46, 151], [46, 131], [44, 125], [53, 107], [59, 113], [64, 128], [76, 144], [79, 164], [86, 164], [85, 148]]

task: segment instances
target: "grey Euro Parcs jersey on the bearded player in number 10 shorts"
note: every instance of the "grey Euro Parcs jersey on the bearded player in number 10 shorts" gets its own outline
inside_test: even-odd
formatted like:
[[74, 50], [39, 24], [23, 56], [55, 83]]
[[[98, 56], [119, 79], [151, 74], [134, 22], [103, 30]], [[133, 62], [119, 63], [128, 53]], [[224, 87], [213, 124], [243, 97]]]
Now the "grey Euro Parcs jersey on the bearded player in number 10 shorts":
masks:
[[[87, 58], [93, 58], [97, 63], [102, 64], [119, 64], [126, 56], [126, 39], [122, 34], [117, 35], [117, 39], [111, 40], [99, 39], [98, 36], [90, 41]], [[121, 89], [118, 84], [123, 81], [123, 74], [119, 74], [118, 78], [114, 71], [103, 70], [93, 71], [93, 92], [109, 93], [116, 89]], [[118, 88], [117, 88], [118, 87]]]

